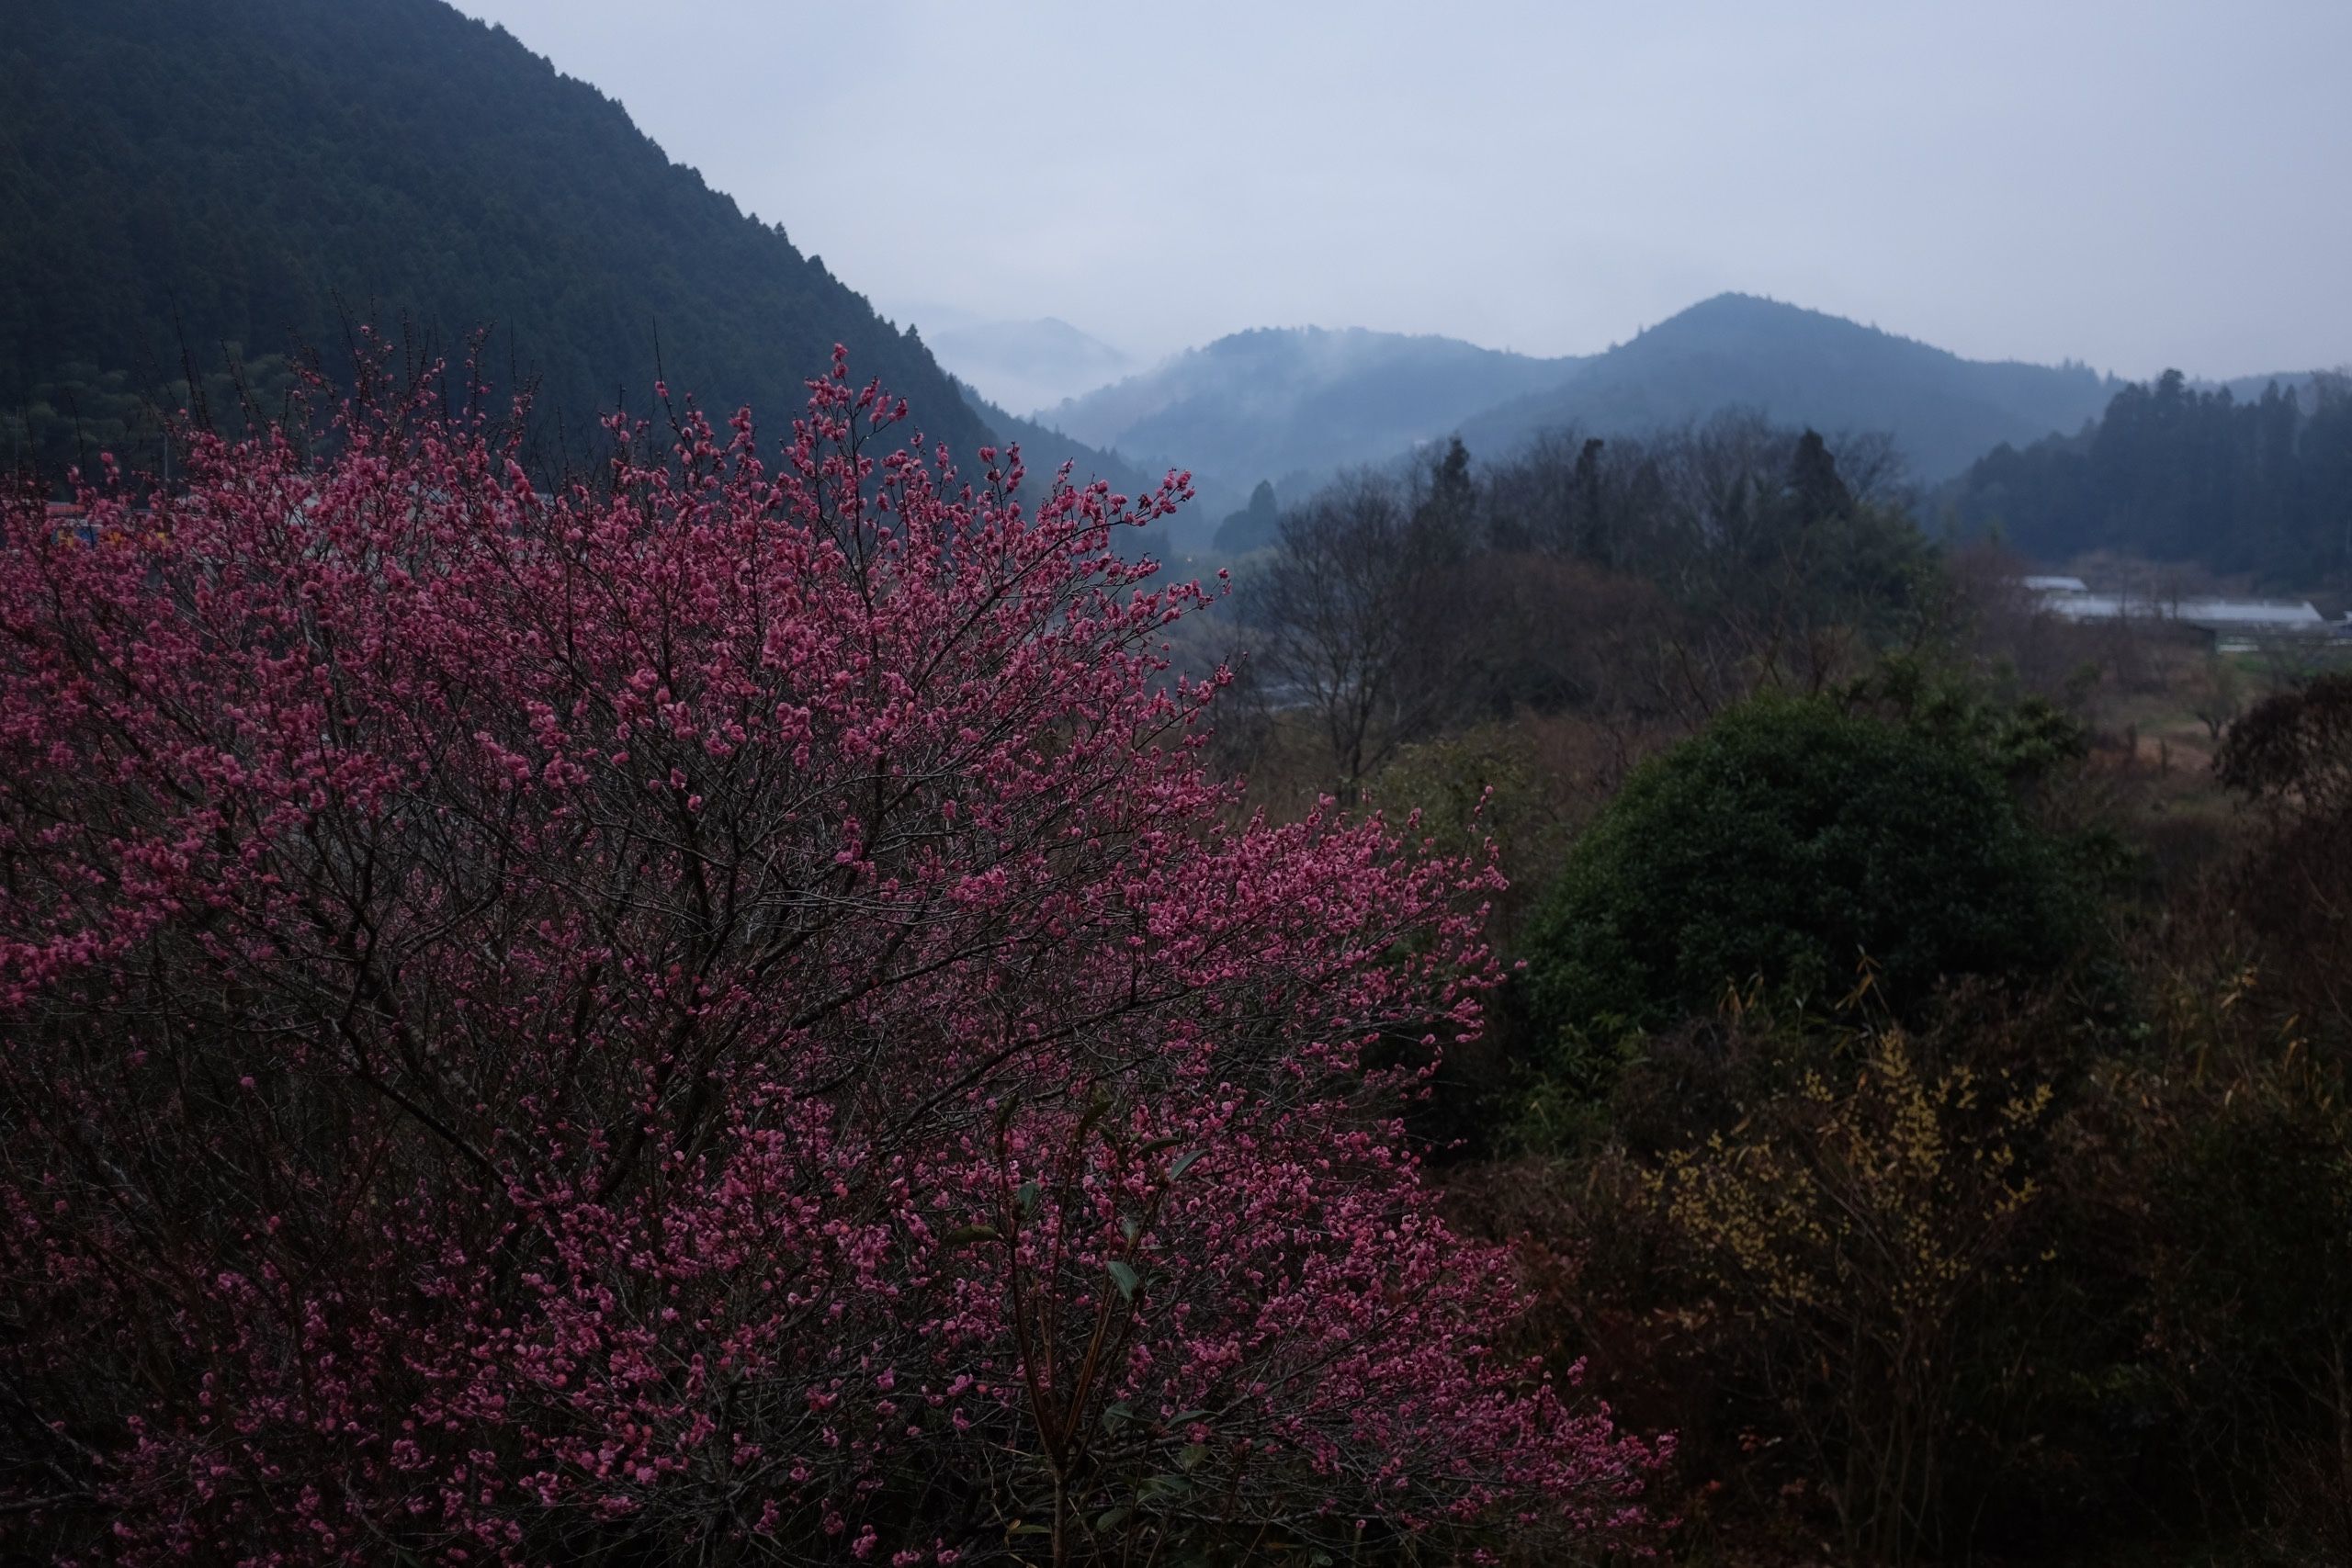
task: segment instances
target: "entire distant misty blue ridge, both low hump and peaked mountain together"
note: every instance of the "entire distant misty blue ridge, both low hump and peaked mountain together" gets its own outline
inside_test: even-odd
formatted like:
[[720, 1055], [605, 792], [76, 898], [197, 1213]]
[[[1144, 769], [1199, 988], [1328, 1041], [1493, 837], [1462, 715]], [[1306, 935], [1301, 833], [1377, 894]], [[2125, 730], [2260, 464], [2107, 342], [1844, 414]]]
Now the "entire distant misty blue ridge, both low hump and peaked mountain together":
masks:
[[2082, 364], [1964, 360], [1750, 294], [1719, 294], [1597, 355], [1534, 357], [1458, 339], [1256, 329], [1037, 414], [1129, 458], [1202, 475], [1207, 510], [1272, 480], [1296, 498], [1338, 468], [1461, 435], [1501, 458], [1548, 430], [1642, 435], [1759, 409], [1828, 435], [1884, 430], [1922, 484], [1985, 451], [2079, 430], [2122, 386]]

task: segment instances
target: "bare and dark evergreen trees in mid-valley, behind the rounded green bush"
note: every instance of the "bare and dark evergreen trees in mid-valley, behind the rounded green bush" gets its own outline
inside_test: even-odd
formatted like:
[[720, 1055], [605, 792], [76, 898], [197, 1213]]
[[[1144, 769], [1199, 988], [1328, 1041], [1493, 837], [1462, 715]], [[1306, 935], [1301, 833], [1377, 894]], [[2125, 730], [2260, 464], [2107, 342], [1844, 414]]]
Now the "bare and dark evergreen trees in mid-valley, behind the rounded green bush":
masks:
[[1319, 717], [1343, 785], [1482, 717], [1710, 708], [1762, 665], [1818, 686], [1933, 578], [1889, 442], [1842, 449], [1719, 416], [1555, 435], [1491, 468], [1456, 440], [1359, 470], [1279, 512], [1249, 557], [1244, 665], [1277, 708]]

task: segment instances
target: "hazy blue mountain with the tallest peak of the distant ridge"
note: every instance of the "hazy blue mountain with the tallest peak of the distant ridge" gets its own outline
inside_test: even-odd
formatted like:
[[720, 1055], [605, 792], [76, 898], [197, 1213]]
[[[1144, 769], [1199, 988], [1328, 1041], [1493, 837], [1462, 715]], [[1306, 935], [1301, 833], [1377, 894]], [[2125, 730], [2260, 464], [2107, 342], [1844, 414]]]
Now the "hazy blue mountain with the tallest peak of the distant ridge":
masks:
[[1922, 482], [2002, 442], [2079, 430], [2119, 383], [2082, 364], [1962, 360], [1820, 310], [1717, 294], [1573, 367], [1562, 383], [1465, 418], [1479, 456], [1543, 430], [1637, 435], [1729, 407], [1818, 430], [1884, 430]]

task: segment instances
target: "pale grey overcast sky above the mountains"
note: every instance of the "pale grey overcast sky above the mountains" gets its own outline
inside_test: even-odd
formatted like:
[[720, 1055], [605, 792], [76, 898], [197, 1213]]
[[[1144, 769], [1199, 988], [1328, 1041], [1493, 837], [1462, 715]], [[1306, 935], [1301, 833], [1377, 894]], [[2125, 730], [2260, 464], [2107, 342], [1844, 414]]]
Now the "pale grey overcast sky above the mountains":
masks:
[[[884, 315], [2352, 360], [2352, 0], [459, 0]], [[943, 324], [943, 322], [941, 322]]]

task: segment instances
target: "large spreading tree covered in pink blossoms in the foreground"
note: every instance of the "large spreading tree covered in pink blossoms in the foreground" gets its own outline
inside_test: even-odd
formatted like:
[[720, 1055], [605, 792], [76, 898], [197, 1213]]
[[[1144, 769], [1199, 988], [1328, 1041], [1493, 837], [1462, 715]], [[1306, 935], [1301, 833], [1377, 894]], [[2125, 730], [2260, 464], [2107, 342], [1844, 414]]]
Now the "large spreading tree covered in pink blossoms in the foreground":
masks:
[[1025, 505], [840, 360], [553, 494], [435, 409], [7, 505], [0, 1554], [1639, 1526], [1376, 1067], [1477, 1025], [1494, 872], [1204, 773], [1204, 590], [1112, 550], [1181, 475]]

